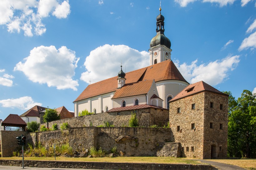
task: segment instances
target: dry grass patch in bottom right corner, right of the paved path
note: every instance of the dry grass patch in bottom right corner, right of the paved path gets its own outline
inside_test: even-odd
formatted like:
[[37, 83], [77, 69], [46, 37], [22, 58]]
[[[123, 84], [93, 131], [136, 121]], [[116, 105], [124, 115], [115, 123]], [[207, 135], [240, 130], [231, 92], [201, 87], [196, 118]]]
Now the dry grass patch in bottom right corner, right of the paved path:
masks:
[[208, 161], [227, 163], [236, 165], [242, 168], [256, 170], [256, 159], [241, 158], [241, 159], [209, 159]]

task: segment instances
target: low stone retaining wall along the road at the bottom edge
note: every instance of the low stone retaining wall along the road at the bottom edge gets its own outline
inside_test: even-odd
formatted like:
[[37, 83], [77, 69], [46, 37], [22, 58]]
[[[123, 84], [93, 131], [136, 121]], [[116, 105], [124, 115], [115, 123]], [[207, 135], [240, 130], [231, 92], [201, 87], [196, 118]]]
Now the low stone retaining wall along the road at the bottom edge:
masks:
[[[21, 160], [0, 160], [3, 166], [22, 166]], [[24, 167], [38, 168], [83, 168], [83, 169], [172, 169], [172, 170], [211, 170], [211, 165], [166, 164], [166, 163], [112, 163], [112, 162], [69, 162], [69, 161], [29, 161], [24, 160]]]

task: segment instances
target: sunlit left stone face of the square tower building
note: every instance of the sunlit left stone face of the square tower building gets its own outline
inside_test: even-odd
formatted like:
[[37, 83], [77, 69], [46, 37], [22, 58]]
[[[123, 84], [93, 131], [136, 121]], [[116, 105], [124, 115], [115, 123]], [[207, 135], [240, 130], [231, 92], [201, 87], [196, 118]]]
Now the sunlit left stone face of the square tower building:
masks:
[[[192, 104], [195, 104], [193, 110]], [[177, 113], [178, 108], [180, 113]], [[177, 126], [180, 126], [179, 131]], [[184, 148], [183, 157], [203, 158], [204, 92], [170, 102], [170, 128], [175, 142], [180, 142]]]

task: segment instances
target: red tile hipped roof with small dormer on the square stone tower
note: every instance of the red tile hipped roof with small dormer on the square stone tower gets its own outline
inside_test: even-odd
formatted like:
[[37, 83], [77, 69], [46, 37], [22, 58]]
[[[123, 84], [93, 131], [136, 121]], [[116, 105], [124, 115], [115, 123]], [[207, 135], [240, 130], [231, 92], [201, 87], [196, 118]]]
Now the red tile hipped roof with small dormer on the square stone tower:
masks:
[[225, 96], [229, 96], [223, 92], [220, 92], [219, 90], [217, 90], [216, 88], [210, 86], [209, 84], [200, 81], [194, 84], [190, 84], [189, 86], [187, 86], [186, 88], [184, 88], [180, 93], [178, 93], [174, 98], [172, 98], [170, 100], [170, 102], [173, 102], [175, 100], [187, 97], [187, 96], [191, 96], [193, 94], [199, 93], [199, 92], [204, 92], [204, 91], [208, 91], [208, 92], [213, 92], [213, 93], [218, 93], [218, 94], [222, 94]]

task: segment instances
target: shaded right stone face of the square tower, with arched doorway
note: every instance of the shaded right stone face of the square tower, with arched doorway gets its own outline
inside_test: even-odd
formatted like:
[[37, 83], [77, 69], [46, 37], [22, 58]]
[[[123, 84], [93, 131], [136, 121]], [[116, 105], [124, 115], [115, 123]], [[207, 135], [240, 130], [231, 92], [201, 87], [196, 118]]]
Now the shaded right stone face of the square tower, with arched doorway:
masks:
[[[213, 107], [210, 107], [210, 102]], [[220, 110], [220, 104], [223, 105]], [[210, 128], [212, 123], [212, 128]], [[222, 129], [220, 129], [222, 124]], [[204, 159], [211, 158], [211, 145], [213, 145], [213, 158], [227, 157], [228, 139], [228, 96], [205, 92], [204, 98]], [[221, 147], [221, 149], [220, 149]]]

